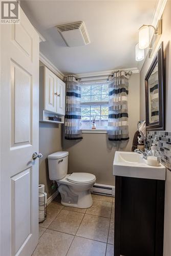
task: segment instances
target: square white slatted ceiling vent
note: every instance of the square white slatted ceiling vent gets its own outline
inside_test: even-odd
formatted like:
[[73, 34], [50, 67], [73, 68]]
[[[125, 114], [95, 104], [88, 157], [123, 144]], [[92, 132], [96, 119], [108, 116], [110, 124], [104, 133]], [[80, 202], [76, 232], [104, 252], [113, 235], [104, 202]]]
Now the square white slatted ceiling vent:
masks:
[[66, 45], [69, 47], [90, 44], [90, 38], [84, 22], [75, 22], [56, 26]]

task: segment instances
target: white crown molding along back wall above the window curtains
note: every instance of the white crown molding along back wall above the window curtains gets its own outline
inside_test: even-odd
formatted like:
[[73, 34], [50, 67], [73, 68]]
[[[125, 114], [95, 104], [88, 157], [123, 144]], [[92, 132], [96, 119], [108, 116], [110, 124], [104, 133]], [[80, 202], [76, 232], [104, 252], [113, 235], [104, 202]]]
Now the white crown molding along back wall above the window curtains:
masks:
[[98, 71], [98, 72], [90, 72], [90, 73], [81, 73], [75, 74], [74, 76], [78, 78], [85, 78], [85, 77], [96, 77], [96, 76], [108, 76], [113, 74], [115, 71], [123, 70], [123, 71], [132, 71], [133, 74], [139, 73], [137, 68], [127, 68], [127, 69], [116, 69], [116, 70], [105, 70], [105, 71]]

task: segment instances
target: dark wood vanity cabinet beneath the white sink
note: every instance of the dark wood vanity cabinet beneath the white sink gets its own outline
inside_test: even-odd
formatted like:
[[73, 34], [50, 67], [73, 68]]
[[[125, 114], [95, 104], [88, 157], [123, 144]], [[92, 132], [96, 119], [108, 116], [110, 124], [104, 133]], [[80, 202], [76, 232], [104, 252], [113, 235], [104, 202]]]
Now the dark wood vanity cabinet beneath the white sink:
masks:
[[115, 177], [115, 256], [163, 256], [164, 180]]

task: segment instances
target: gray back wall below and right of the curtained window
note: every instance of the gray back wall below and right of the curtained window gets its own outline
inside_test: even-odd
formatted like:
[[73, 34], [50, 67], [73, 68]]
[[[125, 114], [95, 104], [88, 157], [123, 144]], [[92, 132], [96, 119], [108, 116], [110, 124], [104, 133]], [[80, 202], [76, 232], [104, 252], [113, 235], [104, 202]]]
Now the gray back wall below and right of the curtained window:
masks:
[[125, 143], [114, 143], [106, 134], [86, 134], [79, 142], [63, 141], [63, 150], [69, 151], [69, 172], [92, 173], [96, 183], [114, 185], [112, 164], [116, 150], [131, 151], [137, 122], [140, 119], [140, 84], [139, 74], [133, 74], [129, 81], [129, 131], [130, 140]]

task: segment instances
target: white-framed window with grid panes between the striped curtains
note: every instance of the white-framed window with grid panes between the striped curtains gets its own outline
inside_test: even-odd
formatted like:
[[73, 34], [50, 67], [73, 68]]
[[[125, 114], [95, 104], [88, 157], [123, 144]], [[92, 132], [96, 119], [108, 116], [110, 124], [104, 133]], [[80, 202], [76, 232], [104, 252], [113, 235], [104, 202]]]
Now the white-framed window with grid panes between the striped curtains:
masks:
[[81, 86], [81, 127], [91, 129], [93, 117], [96, 117], [97, 129], [108, 126], [109, 84], [94, 83]]

